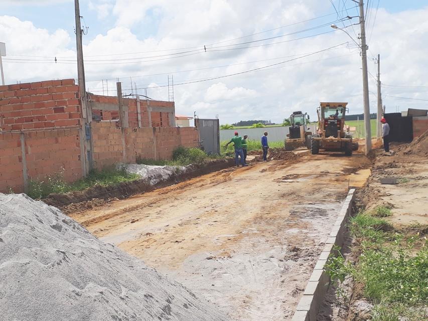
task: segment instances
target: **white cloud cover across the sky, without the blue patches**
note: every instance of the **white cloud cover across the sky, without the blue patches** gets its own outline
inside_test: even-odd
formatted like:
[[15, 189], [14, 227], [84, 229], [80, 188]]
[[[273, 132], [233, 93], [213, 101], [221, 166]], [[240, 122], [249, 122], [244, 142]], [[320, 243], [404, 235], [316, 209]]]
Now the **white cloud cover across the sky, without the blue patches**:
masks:
[[[167, 73], [174, 74], [176, 84], [192, 82], [263, 67], [296, 58], [293, 55], [351, 42], [345, 33], [336, 31], [271, 46], [217, 52], [208, 50], [206, 53], [165, 59], [168, 58], [165, 55], [171, 51], [161, 50], [196, 46], [202, 48], [203, 45], [214, 43], [219, 43], [216, 46], [224, 46], [254, 41], [321, 25], [335, 20], [336, 15], [313, 21], [310, 25], [297, 24], [269, 33], [228, 41], [311, 19], [334, 10], [326, 9], [329, 2], [316, 0], [305, 2], [91, 0], [88, 6], [92, 10], [99, 11], [100, 17], [113, 15], [116, 19], [113, 28], [92, 38], [85, 36], [85, 71], [89, 80], [87, 86], [97, 93], [102, 93], [103, 84], [101, 81], [91, 80], [110, 78], [109, 94], [114, 94], [117, 77], [120, 77], [122, 88], [125, 90], [130, 88], [129, 76], [132, 76], [132, 84], [136, 83], [138, 88], [167, 86]], [[368, 63], [369, 71], [375, 75], [376, 65], [373, 64], [371, 56], [381, 54], [381, 77], [384, 84], [428, 86], [424, 72], [428, 67], [426, 55], [428, 45], [425, 41], [428, 38], [427, 15], [428, 8], [394, 14], [379, 9], [376, 27], [369, 42]], [[150, 31], [152, 36], [143, 37], [141, 35], [145, 35], [145, 29], [142, 26], [147, 28], [145, 23], [148, 21], [149, 24], [156, 25], [156, 28]], [[369, 36], [371, 25], [367, 29]], [[330, 28], [315, 30], [314, 33], [323, 31], [330, 31]], [[353, 35], [352, 29], [349, 31]], [[358, 33], [357, 30], [356, 32]], [[296, 34], [274, 41], [290, 40], [300, 36], [301, 34]], [[70, 60], [71, 63], [75, 57], [75, 51], [68, 49], [75, 47], [75, 38], [71, 30], [66, 32], [58, 29], [49, 32], [15, 17], [0, 17], [0, 41], [7, 43], [9, 56], [5, 58], [9, 59], [20, 58], [10, 56], [12, 54], [48, 56], [52, 59], [57, 56], [60, 57], [59, 62]], [[254, 43], [256, 44], [258, 43]], [[192, 49], [181, 51], [187, 50]], [[119, 53], [134, 54], [105, 56]], [[131, 58], [135, 59], [129, 60]], [[140, 62], [145, 60], [147, 62]], [[251, 63], [244, 64], [245, 62]], [[225, 67], [197, 70], [213, 66]], [[4, 67], [6, 80], [10, 83], [36, 79], [75, 78], [77, 74], [74, 64], [20, 64], [5, 59]], [[196, 71], [177, 73], [195, 69]], [[193, 115], [193, 111], [196, 110], [200, 117], [214, 117], [219, 114], [221, 123], [246, 118], [265, 118], [279, 122], [288, 117], [293, 110], [309, 112], [314, 119], [316, 107], [322, 100], [348, 101], [351, 113], [361, 113], [363, 101], [361, 77], [361, 58], [358, 52], [338, 48], [256, 72], [214, 81], [176, 85], [174, 96], [178, 113]], [[104, 93], [105, 86], [104, 81]], [[376, 92], [376, 85], [371, 76], [369, 86], [370, 91]], [[423, 107], [424, 105], [418, 101], [397, 100], [385, 96], [389, 94], [428, 98], [428, 95], [421, 93], [420, 89], [383, 88], [387, 111], [389, 106], [391, 106], [389, 111], [395, 111], [395, 105], [400, 105], [402, 109]], [[139, 89], [139, 93], [144, 94], [144, 91]], [[148, 89], [148, 96], [168, 100], [168, 88]], [[372, 93], [370, 100], [376, 100]], [[371, 109], [376, 110], [375, 104], [371, 105]]]

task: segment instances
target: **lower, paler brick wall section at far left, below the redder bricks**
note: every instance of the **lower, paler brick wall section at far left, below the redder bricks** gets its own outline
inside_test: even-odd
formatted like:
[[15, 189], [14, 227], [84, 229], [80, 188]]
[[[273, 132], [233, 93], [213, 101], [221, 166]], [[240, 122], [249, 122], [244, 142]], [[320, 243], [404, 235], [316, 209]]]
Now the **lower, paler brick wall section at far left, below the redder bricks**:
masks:
[[[22, 141], [25, 144], [25, 157]], [[66, 181], [80, 179], [79, 141], [78, 129], [0, 131], [0, 192], [8, 192], [10, 188], [15, 193], [24, 192], [25, 169], [29, 180], [44, 180], [62, 169]]]

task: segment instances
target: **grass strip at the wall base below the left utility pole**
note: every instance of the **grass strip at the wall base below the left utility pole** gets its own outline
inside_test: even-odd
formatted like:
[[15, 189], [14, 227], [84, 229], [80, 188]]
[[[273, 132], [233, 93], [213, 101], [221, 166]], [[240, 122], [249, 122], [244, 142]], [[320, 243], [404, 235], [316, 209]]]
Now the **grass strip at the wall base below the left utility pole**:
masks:
[[83, 191], [95, 185], [109, 186], [122, 182], [137, 180], [137, 174], [129, 174], [124, 168], [111, 166], [103, 170], [92, 170], [89, 175], [73, 183], [64, 180], [64, 169], [49, 175], [45, 180], [31, 180], [29, 182], [28, 196], [33, 199], [44, 199], [51, 193], [67, 193], [71, 191]]

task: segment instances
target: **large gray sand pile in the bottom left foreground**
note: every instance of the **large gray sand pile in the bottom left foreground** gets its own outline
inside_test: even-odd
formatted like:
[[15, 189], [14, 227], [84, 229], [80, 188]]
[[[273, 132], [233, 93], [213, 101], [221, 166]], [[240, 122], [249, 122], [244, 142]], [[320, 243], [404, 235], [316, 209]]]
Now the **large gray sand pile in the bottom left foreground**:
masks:
[[58, 209], [0, 194], [0, 320], [226, 320]]

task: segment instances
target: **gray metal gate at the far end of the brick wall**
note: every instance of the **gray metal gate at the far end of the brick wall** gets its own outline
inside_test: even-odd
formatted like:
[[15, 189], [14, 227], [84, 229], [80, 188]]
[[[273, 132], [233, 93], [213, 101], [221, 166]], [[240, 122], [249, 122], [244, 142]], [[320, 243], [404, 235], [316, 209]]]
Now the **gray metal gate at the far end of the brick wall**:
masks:
[[195, 118], [199, 139], [208, 154], [220, 153], [220, 124], [218, 119]]

